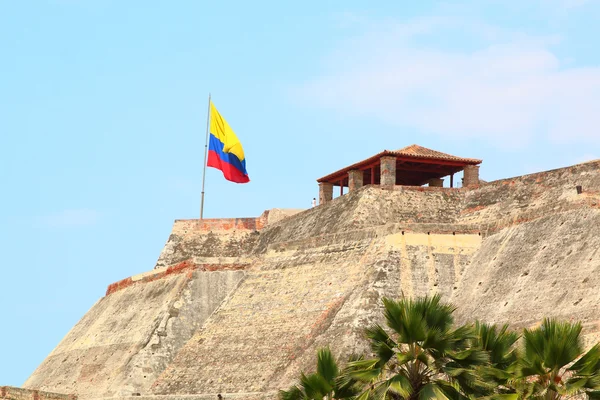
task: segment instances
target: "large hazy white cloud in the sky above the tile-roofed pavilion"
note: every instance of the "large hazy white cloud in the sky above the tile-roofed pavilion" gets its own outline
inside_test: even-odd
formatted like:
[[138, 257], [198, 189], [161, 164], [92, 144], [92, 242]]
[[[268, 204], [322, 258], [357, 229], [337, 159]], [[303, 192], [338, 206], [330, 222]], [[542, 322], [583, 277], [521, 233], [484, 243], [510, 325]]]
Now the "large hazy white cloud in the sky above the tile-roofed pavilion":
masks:
[[[506, 147], [534, 137], [600, 143], [600, 66], [563, 62], [552, 51], [559, 36], [453, 18], [368, 26], [324, 60], [329, 73], [293, 93], [341, 113]], [[479, 32], [468, 51], [421, 40], [465, 32]]]

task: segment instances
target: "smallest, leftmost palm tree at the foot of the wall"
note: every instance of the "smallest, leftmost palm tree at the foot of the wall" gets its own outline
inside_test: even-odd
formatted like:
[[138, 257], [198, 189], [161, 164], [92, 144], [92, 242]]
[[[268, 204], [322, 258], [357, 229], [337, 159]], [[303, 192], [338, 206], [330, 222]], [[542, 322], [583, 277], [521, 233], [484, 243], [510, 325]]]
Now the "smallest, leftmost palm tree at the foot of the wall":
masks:
[[[356, 357], [351, 358], [352, 361]], [[329, 348], [317, 352], [317, 371], [310, 375], [304, 372], [300, 376], [298, 385], [293, 385], [288, 390], [280, 390], [281, 400], [332, 400], [348, 399], [360, 392], [356, 387], [356, 380], [341, 379], [338, 367]]]

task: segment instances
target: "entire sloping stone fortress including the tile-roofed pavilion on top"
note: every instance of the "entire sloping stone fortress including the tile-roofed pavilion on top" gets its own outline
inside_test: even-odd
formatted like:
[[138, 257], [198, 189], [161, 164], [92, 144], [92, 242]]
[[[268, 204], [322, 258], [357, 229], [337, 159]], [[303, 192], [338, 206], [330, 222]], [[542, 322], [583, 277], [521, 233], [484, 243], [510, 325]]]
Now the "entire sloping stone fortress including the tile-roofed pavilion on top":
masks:
[[318, 348], [366, 353], [383, 296], [440, 293], [458, 322], [576, 319], [599, 340], [600, 160], [494, 182], [480, 163], [413, 145], [319, 179], [308, 210], [177, 220], [156, 267], [0, 398], [276, 398]]

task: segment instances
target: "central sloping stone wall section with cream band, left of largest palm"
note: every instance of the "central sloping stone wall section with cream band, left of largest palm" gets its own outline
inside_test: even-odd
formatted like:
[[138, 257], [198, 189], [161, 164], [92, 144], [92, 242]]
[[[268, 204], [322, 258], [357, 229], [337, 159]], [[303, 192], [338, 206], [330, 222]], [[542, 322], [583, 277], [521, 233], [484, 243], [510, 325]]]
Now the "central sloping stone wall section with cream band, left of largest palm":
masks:
[[481, 241], [478, 234], [402, 235], [385, 227], [352, 234], [317, 246], [269, 247], [153, 392], [270, 392], [313, 368], [319, 347], [331, 345], [341, 358], [366, 351], [363, 329], [381, 318], [383, 296], [451, 296]]

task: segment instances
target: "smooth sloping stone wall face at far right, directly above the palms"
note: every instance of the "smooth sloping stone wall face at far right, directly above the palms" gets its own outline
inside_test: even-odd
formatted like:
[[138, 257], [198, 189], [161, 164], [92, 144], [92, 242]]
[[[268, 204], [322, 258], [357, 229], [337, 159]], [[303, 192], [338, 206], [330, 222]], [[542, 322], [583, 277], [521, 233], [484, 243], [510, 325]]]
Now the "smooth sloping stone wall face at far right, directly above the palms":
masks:
[[600, 210], [555, 213], [484, 239], [452, 301], [461, 321], [530, 327], [544, 317], [600, 332]]

